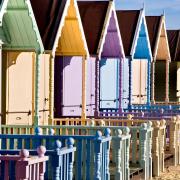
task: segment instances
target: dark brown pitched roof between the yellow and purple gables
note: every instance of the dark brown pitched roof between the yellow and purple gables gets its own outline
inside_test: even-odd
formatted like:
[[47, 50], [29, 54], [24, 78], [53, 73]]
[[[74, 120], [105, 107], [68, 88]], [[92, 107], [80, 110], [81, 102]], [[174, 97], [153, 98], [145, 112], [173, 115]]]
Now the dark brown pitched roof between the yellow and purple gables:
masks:
[[78, 1], [89, 53], [97, 54], [109, 1]]

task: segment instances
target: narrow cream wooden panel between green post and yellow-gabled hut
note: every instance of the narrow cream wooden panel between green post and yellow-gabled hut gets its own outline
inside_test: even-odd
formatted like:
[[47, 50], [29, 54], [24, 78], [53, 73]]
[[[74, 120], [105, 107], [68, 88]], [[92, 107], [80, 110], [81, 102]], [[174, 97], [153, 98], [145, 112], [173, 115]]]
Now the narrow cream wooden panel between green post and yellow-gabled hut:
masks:
[[49, 116], [49, 55], [41, 55], [40, 58], [40, 82], [39, 82], [39, 123], [48, 124]]

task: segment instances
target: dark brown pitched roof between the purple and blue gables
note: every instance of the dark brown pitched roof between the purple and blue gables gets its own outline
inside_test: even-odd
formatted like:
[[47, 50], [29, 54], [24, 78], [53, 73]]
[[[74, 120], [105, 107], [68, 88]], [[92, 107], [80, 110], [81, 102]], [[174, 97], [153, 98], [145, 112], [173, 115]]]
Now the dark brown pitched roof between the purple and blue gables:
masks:
[[[126, 56], [130, 56], [140, 10], [116, 11]], [[127, 23], [128, 22], [128, 23]]]

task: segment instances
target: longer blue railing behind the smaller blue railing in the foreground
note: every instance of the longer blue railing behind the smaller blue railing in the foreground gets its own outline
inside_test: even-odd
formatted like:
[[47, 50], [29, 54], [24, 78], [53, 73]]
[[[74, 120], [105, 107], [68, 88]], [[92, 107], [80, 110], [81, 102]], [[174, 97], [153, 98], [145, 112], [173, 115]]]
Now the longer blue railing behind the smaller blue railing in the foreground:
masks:
[[[48, 171], [45, 174], [47, 179], [52, 177], [60, 178], [60, 171], [57, 159], [57, 156], [54, 156], [54, 143], [57, 140], [62, 142], [62, 146], [69, 144], [68, 139], [73, 138], [75, 141], [75, 146], [77, 151], [75, 152], [75, 169], [74, 177], [76, 180], [79, 179], [91, 179], [92, 176], [94, 179], [103, 179], [109, 180], [109, 148], [110, 148], [110, 131], [106, 129], [105, 136], [102, 136], [100, 131], [97, 131], [96, 135], [89, 136], [59, 136], [59, 135], [40, 135], [39, 129], [36, 130], [36, 135], [0, 135], [1, 140], [1, 151], [4, 153], [15, 152], [19, 149], [33, 149], [35, 150], [38, 146], [44, 145], [47, 149], [47, 155], [50, 156], [51, 163], [48, 163]], [[57, 143], [56, 143], [57, 145]], [[57, 153], [58, 148], [55, 148]], [[30, 151], [33, 153], [33, 151]], [[58, 154], [57, 154], [58, 155]], [[63, 163], [66, 168], [67, 159], [73, 159], [73, 157], [64, 158]], [[50, 167], [53, 165], [55, 170]], [[69, 172], [71, 172], [70, 177], [72, 177], [72, 161], [69, 163]], [[53, 172], [55, 171], [55, 172]], [[64, 171], [63, 171], [64, 172]], [[64, 178], [65, 176], [65, 178]], [[67, 174], [64, 172], [63, 178], [66, 180]]]

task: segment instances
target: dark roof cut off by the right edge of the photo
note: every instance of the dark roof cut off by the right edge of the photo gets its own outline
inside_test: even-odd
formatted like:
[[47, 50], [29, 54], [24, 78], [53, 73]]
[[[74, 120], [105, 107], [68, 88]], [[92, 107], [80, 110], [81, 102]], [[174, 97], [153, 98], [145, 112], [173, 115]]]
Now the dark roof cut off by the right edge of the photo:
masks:
[[167, 30], [172, 61], [180, 61], [180, 30]]

